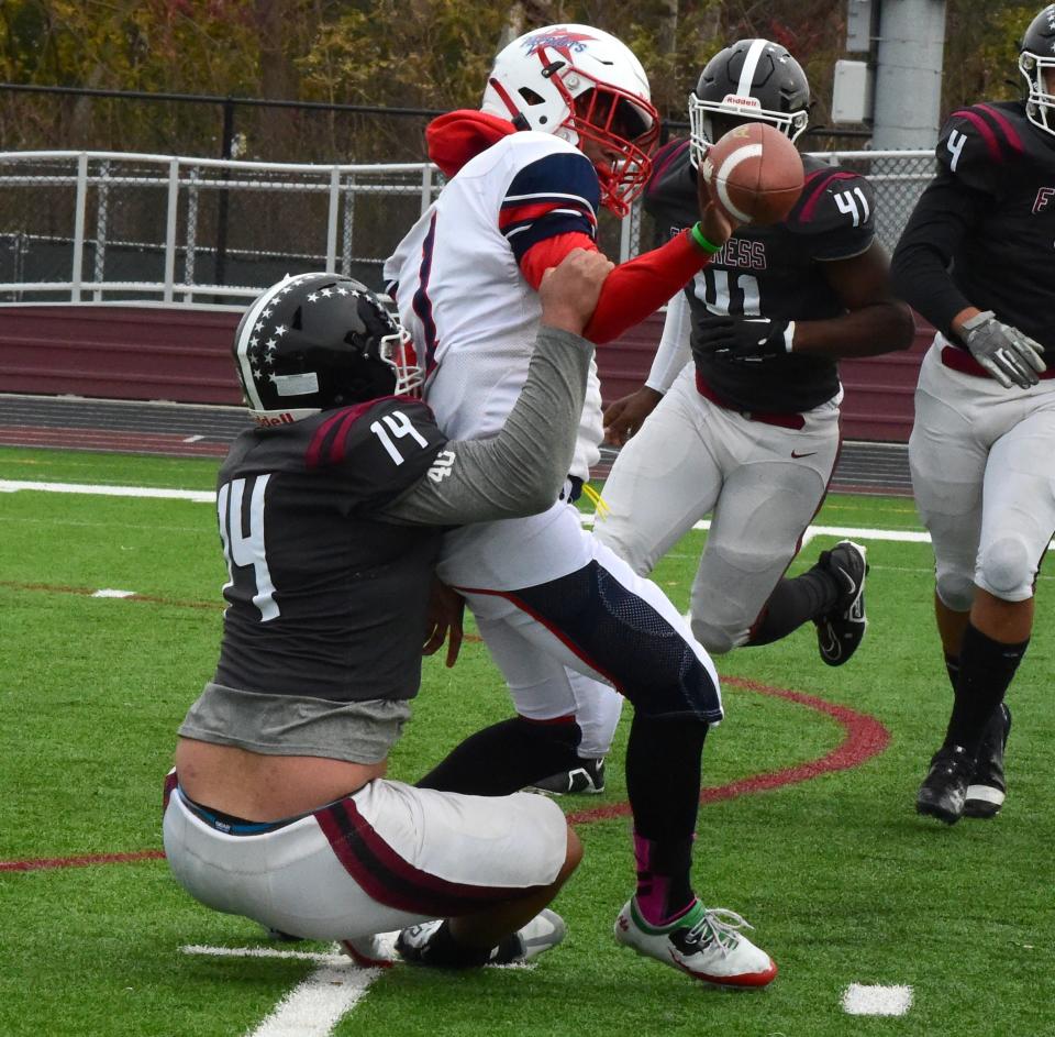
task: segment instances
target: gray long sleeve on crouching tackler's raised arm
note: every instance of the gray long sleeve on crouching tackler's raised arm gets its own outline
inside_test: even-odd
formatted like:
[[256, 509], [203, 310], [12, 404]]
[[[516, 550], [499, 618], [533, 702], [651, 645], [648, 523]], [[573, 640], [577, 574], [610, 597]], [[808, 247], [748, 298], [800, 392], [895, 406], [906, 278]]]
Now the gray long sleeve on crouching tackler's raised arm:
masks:
[[429, 473], [380, 514], [415, 526], [465, 526], [544, 511], [571, 465], [592, 344], [538, 329], [528, 380], [498, 434], [451, 440]]

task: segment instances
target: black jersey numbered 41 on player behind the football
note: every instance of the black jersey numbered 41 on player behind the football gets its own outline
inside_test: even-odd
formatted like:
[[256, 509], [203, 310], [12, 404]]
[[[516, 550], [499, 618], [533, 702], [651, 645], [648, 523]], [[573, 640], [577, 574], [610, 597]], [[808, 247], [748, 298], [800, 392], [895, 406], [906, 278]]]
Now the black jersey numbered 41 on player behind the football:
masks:
[[[839, 391], [833, 361], [791, 353], [759, 363], [697, 350], [696, 322], [708, 313], [823, 320], [845, 312], [823, 264], [865, 252], [875, 236], [875, 195], [867, 179], [802, 156], [806, 186], [784, 223], [741, 227], [685, 294], [692, 313], [697, 375], [725, 405], [743, 411], [801, 412]], [[671, 235], [698, 219], [688, 141], [655, 157], [645, 209]]]

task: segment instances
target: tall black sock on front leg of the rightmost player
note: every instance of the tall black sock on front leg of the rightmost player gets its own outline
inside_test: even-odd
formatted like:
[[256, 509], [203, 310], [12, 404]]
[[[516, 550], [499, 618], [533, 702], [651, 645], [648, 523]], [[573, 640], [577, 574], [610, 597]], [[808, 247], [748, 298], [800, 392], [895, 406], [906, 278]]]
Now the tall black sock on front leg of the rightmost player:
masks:
[[959, 680], [945, 733], [946, 746], [963, 746], [969, 755], [978, 755], [986, 724], [1003, 702], [1029, 643], [1029, 638], [1017, 644], [995, 641], [967, 624], [959, 649]]

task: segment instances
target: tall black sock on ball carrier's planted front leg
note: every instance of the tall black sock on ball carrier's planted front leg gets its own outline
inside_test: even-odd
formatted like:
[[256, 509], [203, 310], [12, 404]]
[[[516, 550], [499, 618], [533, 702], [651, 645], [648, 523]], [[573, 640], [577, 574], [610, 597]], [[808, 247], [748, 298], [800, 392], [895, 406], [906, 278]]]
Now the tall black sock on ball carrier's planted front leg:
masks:
[[[663, 915], [692, 900], [691, 847], [706, 737], [707, 724], [701, 720], [654, 720], [635, 713], [630, 726], [626, 793], [634, 815], [638, 893], [646, 896], [654, 880], [662, 878]], [[647, 853], [641, 840], [647, 840]]]

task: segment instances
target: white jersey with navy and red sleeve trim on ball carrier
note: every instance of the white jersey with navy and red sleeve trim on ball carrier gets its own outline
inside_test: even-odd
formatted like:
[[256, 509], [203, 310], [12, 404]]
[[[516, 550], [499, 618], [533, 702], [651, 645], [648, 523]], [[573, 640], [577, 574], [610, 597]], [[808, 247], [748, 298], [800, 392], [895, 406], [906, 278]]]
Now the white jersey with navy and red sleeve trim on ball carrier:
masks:
[[[542, 312], [519, 261], [557, 234], [596, 236], [597, 173], [573, 145], [513, 133], [466, 163], [385, 265], [424, 356], [425, 398], [452, 439], [492, 435], [526, 377]], [[600, 456], [600, 386], [587, 387], [573, 473]]]

